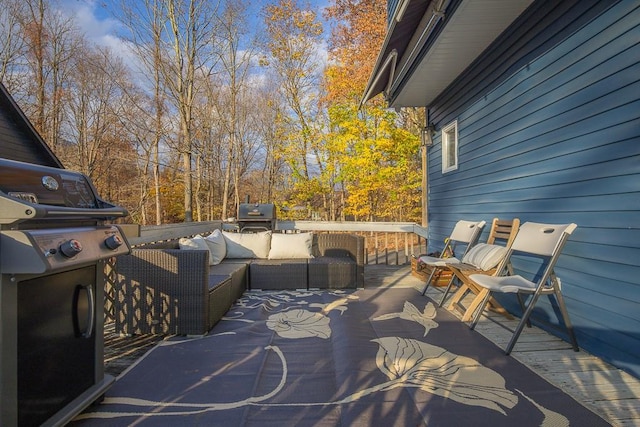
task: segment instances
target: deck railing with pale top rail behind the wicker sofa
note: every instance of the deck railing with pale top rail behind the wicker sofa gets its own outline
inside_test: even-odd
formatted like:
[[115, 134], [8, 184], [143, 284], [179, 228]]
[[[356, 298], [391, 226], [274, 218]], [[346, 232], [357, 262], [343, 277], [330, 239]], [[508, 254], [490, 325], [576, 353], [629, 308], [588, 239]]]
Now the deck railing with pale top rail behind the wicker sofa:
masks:
[[[233, 227], [222, 221], [123, 226], [132, 246]], [[411, 256], [427, 250], [427, 229], [412, 222], [277, 221], [276, 230], [359, 234], [365, 238], [367, 264], [409, 264]]]

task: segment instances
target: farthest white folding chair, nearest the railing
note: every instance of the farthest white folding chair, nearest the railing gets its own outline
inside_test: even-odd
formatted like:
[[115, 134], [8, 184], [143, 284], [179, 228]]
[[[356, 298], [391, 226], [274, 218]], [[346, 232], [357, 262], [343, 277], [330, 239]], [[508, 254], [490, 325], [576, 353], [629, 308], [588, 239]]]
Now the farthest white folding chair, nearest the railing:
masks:
[[446, 254], [455, 254], [455, 248], [459, 244], [465, 244], [466, 248], [463, 253], [464, 256], [464, 254], [466, 254], [467, 251], [469, 251], [469, 249], [471, 249], [478, 242], [480, 234], [482, 234], [482, 229], [484, 228], [486, 223], [486, 221], [458, 221], [453, 228], [451, 235], [446, 240], [445, 247], [440, 253], [440, 257], [432, 257], [426, 255], [420, 257], [419, 262], [423, 263], [427, 269], [431, 270], [429, 277], [425, 282], [424, 289], [422, 290], [422, 295], [427, 292], [427, 289], [436, 276], [436, 273], [439, 273], [448, 264], [460, 262], [460, 260], [456, 257], [445, 258]]

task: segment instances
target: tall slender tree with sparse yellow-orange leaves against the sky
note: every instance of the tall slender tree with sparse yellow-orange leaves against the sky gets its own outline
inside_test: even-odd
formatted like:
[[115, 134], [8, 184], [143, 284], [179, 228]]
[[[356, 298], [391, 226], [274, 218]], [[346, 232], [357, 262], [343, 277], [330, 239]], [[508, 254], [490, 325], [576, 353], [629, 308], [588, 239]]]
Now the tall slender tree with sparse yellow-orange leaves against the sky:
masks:
[[318, 103], [322, 64], [319, 47], [323, 27], [308, 5], [279, 0], [263, 9], [265, 48], [263, 65], [277, 82], [277, 95], [286, 107], [282, 156], [290, 170], [289, 205], [315, 205], [322, 194], [322, 120]]

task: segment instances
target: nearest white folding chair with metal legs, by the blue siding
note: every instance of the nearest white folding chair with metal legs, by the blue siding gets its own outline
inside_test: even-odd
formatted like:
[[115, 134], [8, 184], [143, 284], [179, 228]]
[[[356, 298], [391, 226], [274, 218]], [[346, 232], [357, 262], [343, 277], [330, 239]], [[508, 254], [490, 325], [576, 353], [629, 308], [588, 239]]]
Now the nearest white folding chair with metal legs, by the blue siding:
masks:
[[[470, 275], [469, 279], [481, 288], [481, 292], [476, 297], [481, 299], [478, 304], [480, 308], [476, 310], [473, 315], [473, 321], [470, 325], [471, 329], [475, 328], [482, 314], [483, 307], [494, 293], [517, 294], [523, 314], [505, 349], [505, 353], [510, 354], [525, 324], [529, 324], [529, 317], [540, 296], [548, 295], [550, 297], [554, 295], [573, 349], [578, 351], [578, 341], [573, 332], [569, 313], [564, 303], [560, 278], [558, 278], [554, 272], [554, 267], [560, 257], [560, 253], [576, 227], [576, 224], [558, 225], [534, 222], [525, 222], [522, 224], [505, 260], [508, 262], [513, 254], [517, 254], [518, 257], [542, 259], [543, 264], [537, 269], [537, 272], [532, 274], [534, 277], [531, 280], [520, 275], [499, 277], [482, 274]], [[523, 295], [530, 296], [529, 302], [526, 304]]]

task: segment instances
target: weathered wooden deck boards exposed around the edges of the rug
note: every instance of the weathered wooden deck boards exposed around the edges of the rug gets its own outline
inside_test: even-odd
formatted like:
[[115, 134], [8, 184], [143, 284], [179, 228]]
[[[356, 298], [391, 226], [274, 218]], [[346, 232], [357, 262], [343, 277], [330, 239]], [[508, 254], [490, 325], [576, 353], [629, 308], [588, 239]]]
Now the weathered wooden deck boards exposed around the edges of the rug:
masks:
[[[423, 282], [411, 274], [408, 265], [380, 264], [365, 267], [365, 286], [414, 287], [422, 290]], [[441, 292], [439, 288], [430, 288], [428, 295], [439, 301]], [[476, 330], [504, 348], [515, 325], [516, 321], [491, 313], [481, 318]], [[152, 335], [120, 337], [113, 333], [112, 325], [107, 325], [105, 371], [114, 376], [120, 375], [164, 338]], [[640, 426], [639, 379], [583, 350], [574, 352], [568, 343], [537, 328], [523, 332], [511, 357], [563, 389], [611, 425]]]

